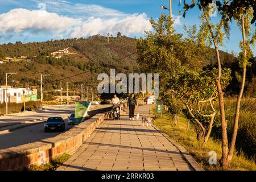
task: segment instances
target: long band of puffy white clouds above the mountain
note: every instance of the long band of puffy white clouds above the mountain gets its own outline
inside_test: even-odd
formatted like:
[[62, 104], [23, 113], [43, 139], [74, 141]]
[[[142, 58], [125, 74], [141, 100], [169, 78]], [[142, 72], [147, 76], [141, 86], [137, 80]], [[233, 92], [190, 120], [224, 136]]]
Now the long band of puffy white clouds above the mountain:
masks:
[[129, 36], [143, 34], [145, 30], [151, 30], [151, 24], [144, 13], [109, 19], [91, 16], [84, 20], [42, 10], [13, 9], [8, 13], [0, 14], [0, 32], [5, 35], [26, 31], [32, 34], [49, 31], [59, 38], [64, 36], [80, 38], [95, 34], [106, 35], [107, 32], [115, 35], [118, 31]]

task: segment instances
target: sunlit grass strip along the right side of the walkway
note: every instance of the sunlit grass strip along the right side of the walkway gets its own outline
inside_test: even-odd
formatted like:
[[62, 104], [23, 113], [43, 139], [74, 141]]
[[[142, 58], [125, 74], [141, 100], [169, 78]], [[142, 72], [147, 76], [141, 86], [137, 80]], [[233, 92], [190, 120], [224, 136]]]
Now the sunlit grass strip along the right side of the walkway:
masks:
[[[155, 113], [155, 110], [152, 110]], [[164, 112], [163, 118], [156, 118], [154, 125], [169, 135], [176, 142], [180, 143], [185, 149], [193, 156], [197, 163], [200, 164], [205, 170], [223, 170], [218, 163], [218, 159], [221, 158], [221, 141], [218, 139], [209, 138], [207, 146], [203, 147], [203, 144], [196, 139], [195, 129], [190, 125], [188, 130], [187, 119], [184, 115], [180, 115], [179, 122], [175, 125], [172, 121], [171, 115]], [[215, 151], [217, 154], [217, 165], [210, 165], [209, 151]], [[253, 159], [248, 159], [243, 154], [235, 152], [233, 155], [232, 163], [228, 170], [250, 170], [256, 171], [256, 165]]]

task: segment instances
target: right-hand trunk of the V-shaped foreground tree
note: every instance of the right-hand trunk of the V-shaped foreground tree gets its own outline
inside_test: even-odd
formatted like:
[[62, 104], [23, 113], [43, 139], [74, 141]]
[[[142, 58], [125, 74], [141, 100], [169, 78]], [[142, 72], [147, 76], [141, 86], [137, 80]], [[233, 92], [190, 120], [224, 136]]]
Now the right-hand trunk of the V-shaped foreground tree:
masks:
[[[228, 162], [226, 163], [227, 166], [230, 165], [231, 159], [234, 154], [234, 148], [236, 144], [236, 138], [237, 138], [237, 130], [238, 130], [238, 121], [239, 121], [239, 114], [240, 114], [240, 105], [243, 95], [243, 88], [245, 87], [245, 77], [246, 77], [246, 59], [247, 59], [247, 50], [246, 50], [246, 42], [245, 42], [245, 24], [244, 24], [244, 15], [242, 15], [242, 36], [243, 36], [243, 73], [242, 73], [242, 82], [241, 82], [241, 88], [240, 92], [237, 96], [237, 104], [236, 104], [236, 114], [234, 117], [234, 126], [233, 126], [233, 134], [232, 139], [230, 143], [229, 148], [229, 154], [228, 154]], [[225, 166], [226, 167], [226, 166]]]

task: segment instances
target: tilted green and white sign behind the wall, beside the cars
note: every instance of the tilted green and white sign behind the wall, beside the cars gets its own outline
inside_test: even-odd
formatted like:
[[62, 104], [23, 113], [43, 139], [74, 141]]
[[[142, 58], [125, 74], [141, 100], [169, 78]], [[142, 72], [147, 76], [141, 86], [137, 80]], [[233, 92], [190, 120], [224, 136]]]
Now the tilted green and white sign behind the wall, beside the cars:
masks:
[[76, 101], [76, 109], [75, 109], [75, 125], [81, 123], [89, 109], [89, 102], [87, 101]]

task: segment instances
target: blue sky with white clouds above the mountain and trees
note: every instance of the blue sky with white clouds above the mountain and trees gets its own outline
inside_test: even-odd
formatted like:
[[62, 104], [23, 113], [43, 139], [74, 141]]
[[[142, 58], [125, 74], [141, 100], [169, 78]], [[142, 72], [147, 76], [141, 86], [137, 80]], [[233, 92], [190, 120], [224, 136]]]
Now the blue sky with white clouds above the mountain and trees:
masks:
[[[81, 38], [90, 35], [113, 36], [117, 32], [137, 38], [144, 31], [152, 30], [150, 17], [158, 19], [161, 13], [169, 15], [168, 0], [0, 0], [0, 44], [17, 41], [43, 42], [47, 40]], [[184, 34], [183, 24], [200, 25], [200, 10], [189, 10], [186, 17], [178, 14], [183, 9], [179, 0], [172, 0], [174, 29]], [[218, 16], [212, 17], [213, 21]], [[255, 27], [254, 31], [255, 31]], [[230, 40], [225, 40], [223, 51], [240, 52], [241, 32], [236, 24], [231, 25]], [[256, 55], [255, 49], [253, 50]]]

